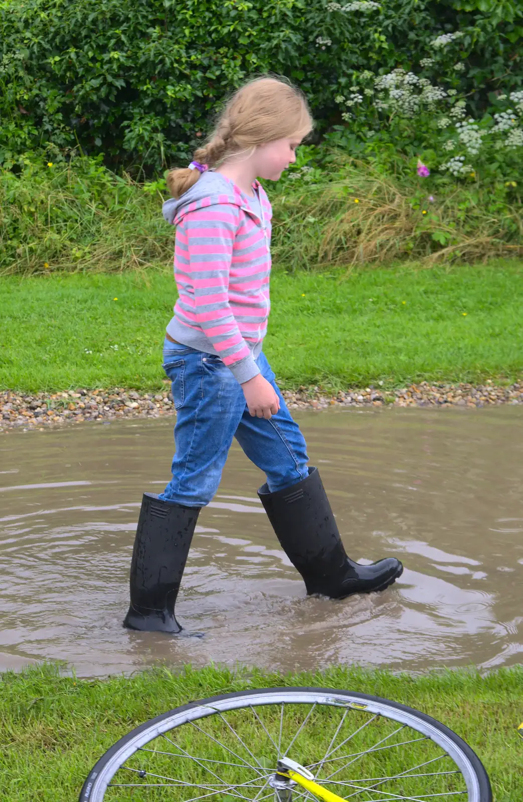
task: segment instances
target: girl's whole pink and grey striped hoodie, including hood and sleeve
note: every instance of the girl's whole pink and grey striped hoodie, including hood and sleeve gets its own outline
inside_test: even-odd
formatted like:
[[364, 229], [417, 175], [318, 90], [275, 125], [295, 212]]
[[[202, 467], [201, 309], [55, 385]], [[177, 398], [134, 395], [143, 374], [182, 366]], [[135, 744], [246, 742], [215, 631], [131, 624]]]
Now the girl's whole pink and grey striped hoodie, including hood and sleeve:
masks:
[[208, 170], [163, 205], [165, 220], [176, 225], [178, 300], [167, 332], [220, 356], [239, 383], [260, 372], [254, 360], [270, 311], [272, 209], [259, 181], [253, 190], [257, 198]]

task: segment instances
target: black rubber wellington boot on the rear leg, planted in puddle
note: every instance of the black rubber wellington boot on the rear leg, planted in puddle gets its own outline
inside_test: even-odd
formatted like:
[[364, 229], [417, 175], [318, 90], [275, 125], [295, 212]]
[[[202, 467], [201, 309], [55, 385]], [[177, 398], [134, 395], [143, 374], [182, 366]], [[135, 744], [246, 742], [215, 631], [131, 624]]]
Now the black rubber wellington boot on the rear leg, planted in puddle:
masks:
[[132, 550], [131, 606], [124, 626], [180, 632], [174, 605], [200, 510], [144, 493]]

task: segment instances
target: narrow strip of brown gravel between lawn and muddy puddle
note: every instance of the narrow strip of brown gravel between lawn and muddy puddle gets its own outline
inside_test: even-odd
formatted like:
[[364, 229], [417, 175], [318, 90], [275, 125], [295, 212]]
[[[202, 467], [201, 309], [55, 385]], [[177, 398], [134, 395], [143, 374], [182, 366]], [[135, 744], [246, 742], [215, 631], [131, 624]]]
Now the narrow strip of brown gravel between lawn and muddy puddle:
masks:
[[[523, 379], [510, 387], [485, 384], [429, 384], [422, 382], [399, 390], [366, 387], [326, 395], [320, 387], [283, 391], [290, 409], [326, 407], [488, 407], [493, 404], [523, 403]], [[11, 427], [38, 429], [119, 418], [159, 418], [172, 415], [172, 395], [167, 390], [139, 393], [116, 387], [113, 390], [84, 390], [61, 393], [18, 393], [0, 391], [0, 431]]]

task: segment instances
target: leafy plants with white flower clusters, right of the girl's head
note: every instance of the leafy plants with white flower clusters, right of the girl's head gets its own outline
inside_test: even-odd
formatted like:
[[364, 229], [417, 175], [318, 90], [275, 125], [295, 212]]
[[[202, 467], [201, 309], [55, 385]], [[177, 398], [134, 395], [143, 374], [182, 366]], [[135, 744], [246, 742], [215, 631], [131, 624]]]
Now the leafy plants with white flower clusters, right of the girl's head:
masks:
[[[455, 59], [456, 55], [451, 62]], [[398, 152], [418, 156], [432, 171], [482, 184], [501, 183], [506, 194], [519, 196], [523, 91], [493, 93], [489, 111], [475, 119], [468, 99], [455, 88], [463, 62], [454, 63], [447, 75], [438, 59], [420, 59], [420, 67], [422, 75], [401, 68], [386, 75], [367, 70], [355, 75], [357, 83], [335, 98], [346, 125], [334, 126], [325, 141], [381, 164], [394, 160]], [[434, 82], [434, 73], [443, 74], [440, 83]]]

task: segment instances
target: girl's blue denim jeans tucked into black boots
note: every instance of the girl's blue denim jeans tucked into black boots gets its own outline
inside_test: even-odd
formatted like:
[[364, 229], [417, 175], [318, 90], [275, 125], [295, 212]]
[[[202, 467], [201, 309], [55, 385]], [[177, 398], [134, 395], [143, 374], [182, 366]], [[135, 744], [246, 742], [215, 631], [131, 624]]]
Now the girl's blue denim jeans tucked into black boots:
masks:
[[164, 341], [164, 371], [172, 382], [176, 408], [172, 480], [160, 499], [204, 507], [212, 500], [236, 437], [245, 454], [266, 473], [270, 492], [309, 475], [306, 443], [274, 383], [265, 354], [257, 367], [278, 393], [280, 409], [270, 420], [249, 414], [245, 395], [215, 354]]

